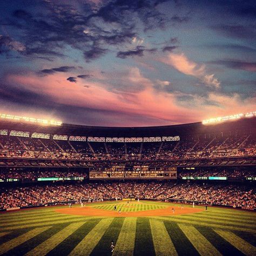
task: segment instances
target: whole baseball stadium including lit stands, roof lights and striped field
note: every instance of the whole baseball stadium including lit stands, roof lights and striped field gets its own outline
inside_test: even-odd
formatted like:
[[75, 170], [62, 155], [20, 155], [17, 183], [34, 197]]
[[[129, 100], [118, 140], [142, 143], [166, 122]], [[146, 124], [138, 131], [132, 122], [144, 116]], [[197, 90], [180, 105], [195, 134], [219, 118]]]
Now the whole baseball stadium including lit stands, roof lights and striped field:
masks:
[[151, 127], [0, 115], [0, 254], [255, 255], [256, 113]]

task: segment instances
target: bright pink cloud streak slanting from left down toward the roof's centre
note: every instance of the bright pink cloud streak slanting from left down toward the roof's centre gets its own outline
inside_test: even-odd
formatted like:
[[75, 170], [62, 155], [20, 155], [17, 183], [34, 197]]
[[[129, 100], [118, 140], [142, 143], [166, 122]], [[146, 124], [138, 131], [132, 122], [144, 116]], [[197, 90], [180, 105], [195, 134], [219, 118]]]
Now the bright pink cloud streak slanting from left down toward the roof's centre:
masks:
[[[156, 94], [152, 82], [144, 78], [138, 69], [132, 68], [129, 75], [122, 77], [130, 83], [145, 86], [145, 90], [136, 93], [110, 92], [107, 91], [106, 84], [87, 81], [86, 85], [90, 87], [85, 88], [83, 81], [77, 80], [77, 83], [70, 83], [66, 81], [66, 76], [62, 73], [40, 78], [33, 74], [29, 76], [11, 75], [8, 77], [8, 81], [19, 84], [25, 90], [46, 95], [56, 103], [90, 107], [98, 110], [118, 110], [124, 115], [142, 115], [157, 119], [160, 123], [168, 122], [168, 120], [170, 123], [173, 122], [173, 116], [177, 122], [181, 122], [182, 117], [188, 117], [190, 112], [192, 114], [192, 111], [176, 106], [172, 95]], [[177, 112], [179, 112], [179, 118], [177, 118]]]

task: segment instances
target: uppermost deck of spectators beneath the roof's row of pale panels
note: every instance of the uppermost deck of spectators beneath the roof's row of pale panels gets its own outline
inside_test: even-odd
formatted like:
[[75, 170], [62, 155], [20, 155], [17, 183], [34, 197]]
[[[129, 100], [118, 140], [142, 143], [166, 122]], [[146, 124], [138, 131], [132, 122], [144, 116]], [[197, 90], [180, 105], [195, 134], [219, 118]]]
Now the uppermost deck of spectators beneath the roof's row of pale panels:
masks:
[[0, 136], [0, 158], [173, 160], [255, 155], [255, 134], [144, 143], [76, 142]]

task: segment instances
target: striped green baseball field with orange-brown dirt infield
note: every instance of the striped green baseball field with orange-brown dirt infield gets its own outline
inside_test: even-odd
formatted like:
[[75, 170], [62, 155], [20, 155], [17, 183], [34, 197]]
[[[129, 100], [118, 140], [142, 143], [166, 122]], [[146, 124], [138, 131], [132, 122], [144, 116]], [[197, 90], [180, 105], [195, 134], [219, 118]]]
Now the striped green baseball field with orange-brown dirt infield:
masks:
[[5, 212], [2, 254], [256, 255], [256, 213], [157, 201]]

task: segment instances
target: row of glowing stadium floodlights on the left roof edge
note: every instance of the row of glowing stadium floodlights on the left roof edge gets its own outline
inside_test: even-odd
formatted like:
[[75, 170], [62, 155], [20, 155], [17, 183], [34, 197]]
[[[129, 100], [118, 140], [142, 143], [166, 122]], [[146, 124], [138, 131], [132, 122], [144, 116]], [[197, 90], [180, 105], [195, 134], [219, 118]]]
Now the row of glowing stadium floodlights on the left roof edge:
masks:
[[54, 126], [62, 125], [62, 122], [59, 122], [56, 120], [13, 116], [12, 114], [3, 114], [3, 113], [0, 113], [0, 119], [8, 119], [9, 121], [14, 121], [14, 122], [29, 122], [29, 123], [39, 124], [39, 125], [54, 125]]

